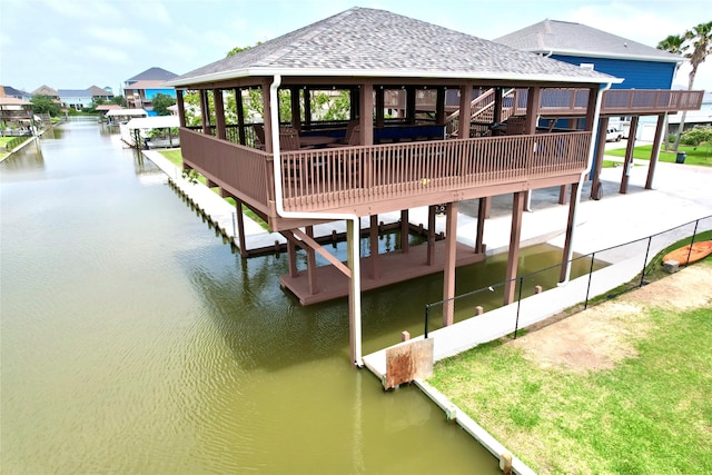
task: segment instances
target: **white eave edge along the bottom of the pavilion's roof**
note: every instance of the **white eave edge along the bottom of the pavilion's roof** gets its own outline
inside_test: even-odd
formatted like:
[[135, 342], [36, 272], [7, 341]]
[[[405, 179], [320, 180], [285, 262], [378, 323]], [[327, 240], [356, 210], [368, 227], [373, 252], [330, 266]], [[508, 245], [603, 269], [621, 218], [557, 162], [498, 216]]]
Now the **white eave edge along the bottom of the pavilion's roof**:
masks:
[[167, 86], [176, 88], [190, 87], [204, 82], [219, 82], [230, 79], [247, 77], [359, 77], [359, 78], [426, 78], [426, 79], [464, 79], [464, 80], [503, 80], [503, 81], [531, 81], [531, 82], [572, 82], [572, 83], [621, 83], [622, 78], [615, 77], [570, 77], [564, 75], [520, 75], [520, 73], [471, 73], [463, 71], [428, 71], [393, 69], [329, 69], [329, 68], [250, 68], [233, 71], [222, 71], [211, 75], [196, 76], [180, 80], [167, 81]]

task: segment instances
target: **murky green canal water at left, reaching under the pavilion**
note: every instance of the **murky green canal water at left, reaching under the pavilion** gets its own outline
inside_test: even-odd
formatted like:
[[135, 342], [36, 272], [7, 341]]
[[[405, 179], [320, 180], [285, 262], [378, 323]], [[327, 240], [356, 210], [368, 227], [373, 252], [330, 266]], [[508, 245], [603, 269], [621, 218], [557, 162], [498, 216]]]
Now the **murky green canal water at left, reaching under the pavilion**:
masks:
[[[415, 387], [303, 308], [95, 120], [0, 164], [3, 474], [498, 473]], [[422, 333], [442, 278], [364, 297], [364, 350]]]

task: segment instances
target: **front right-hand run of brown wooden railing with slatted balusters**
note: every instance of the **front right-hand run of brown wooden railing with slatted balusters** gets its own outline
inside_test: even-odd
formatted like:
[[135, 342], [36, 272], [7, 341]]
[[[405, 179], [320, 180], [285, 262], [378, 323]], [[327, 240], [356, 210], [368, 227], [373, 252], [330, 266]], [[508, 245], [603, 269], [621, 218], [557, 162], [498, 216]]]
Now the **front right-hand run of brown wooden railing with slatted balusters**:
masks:
[[468, 188], [571, 176], [584, 170], [590, 140], [590, 132], [542, 133], [284, 152], [284, 207], [318, 211], [419, 202]]

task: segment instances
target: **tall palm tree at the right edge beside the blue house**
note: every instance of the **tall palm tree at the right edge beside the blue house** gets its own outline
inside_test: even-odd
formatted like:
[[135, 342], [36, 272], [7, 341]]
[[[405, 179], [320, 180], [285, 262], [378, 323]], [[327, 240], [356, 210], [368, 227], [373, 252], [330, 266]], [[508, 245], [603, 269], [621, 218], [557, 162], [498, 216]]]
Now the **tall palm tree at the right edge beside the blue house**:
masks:
[[[688, 52], [692, 48], [692, 52]], [[669, 36], [663, 41], [657, 43], [657, 49], [670, 51], [675, 55], [683, 55], [685, 59], [690, 61], [692, 70], [690, 71], [690, 79], [688, 82], [688, 90], [692, 90], [694, 85], [694, 77], [698, 73], [698, 68], [710, 53], [712, 53], [712, 21], [706, 23], [700, 23], [691, 30], [685, 31], [682, 36]], [[680, 118], [680, 128], [675, 135], [675, 142], [672, 146], [673, 151], [678, 150], [680, 145], [680, 136], [685, 127], [685, 117], [688, 112], [682, 111]]]

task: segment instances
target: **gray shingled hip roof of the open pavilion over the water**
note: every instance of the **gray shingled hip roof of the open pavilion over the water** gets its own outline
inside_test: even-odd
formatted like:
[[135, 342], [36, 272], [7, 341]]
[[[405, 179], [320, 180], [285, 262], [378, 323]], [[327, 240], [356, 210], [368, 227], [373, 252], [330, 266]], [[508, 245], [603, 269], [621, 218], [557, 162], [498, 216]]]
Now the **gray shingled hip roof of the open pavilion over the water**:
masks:
[[167, 83], [250, 76], [617, 82], [611, 76], [384, 10], [352, 8]]

